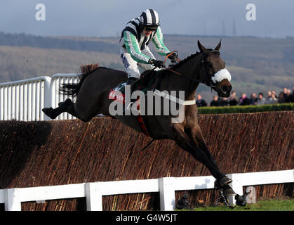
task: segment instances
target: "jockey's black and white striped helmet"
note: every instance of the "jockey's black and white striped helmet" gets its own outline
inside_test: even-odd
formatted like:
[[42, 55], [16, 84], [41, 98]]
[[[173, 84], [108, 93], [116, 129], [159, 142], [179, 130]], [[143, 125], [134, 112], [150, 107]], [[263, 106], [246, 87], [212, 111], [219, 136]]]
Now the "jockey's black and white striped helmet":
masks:
[[140, 27], [147, 30], [157, 30], [159, 26], [159, 15], [154, 9], [147, 9], [140, 15]]

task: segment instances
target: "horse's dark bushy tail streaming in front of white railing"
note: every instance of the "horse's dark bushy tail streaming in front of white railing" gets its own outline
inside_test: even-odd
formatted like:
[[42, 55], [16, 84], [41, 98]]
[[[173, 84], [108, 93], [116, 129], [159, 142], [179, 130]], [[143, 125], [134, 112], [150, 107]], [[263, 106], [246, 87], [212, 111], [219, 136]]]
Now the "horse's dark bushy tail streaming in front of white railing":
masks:
[[62, 86], [59, 89], [60, 94], [65, 94], [67, 96], [73, 96], [76, 97], [79, 94], [79, 89], [81, 89], [81, 84], [83, 84], [83, 81], [88, 77], [88, 75], [93, 72], [93, 70], [96, 70], [99, 68], [98, 63], [96, 64], [88, 64], [88, 65], [81, 65], [80, 66], [80, 74], [79, 75], [79, 83], [78, 84], [62, 84]]

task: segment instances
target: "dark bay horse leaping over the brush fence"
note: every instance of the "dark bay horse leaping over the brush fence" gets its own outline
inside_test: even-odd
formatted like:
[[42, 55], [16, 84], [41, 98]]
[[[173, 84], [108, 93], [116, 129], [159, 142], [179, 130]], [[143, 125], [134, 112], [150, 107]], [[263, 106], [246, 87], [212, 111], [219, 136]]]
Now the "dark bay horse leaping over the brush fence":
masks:
[[[228, 185], [232, 180], [220, 172], [206, 146], [198, 124], [198, 111], [195, 104], [195, 92], [199, 83], [211, 86], [218, 96], [229, 97], [232, 89], [229, 83], [230, 77], [226, 73], [220, 75], [220, 71], [225, 71], [225, 62], [220, 58], [220, 46], [221, 42], [215, 49], [206, 49], [198, 41], [200, 52], [181, 60], [171, 68], [172, 70], [160, 70], [161, 79], [156, 84], [156, 89], [185, 91], [185, 99], [182, 100], [189, 104], [182, 106], [185, 116], [181, 122], [172, 123], [171, 116], [166, 115], [147, 115], [145, 122], [148, 124], [149, 131], [152, 132], [153, 139], [176, 141], [178, 146], [206, 165], [216, 179], [215, 185], [225, 190], [225, 195], [236, 195]], [[126, 81], [126, 78], [126, 72], [109, 68], [96, 68], [86, 72], [81, 76], [79, 84], [64, 84], [62, 87], [65, 94], [76, 96], [75, 103], [67, 98], [65, 102], [59, 104], [58, 108], [44, 108], [43, 112], [52, 119], [55, 119], [60, 113], [69, 113], [83, 122], [88, 122], [100, 113], [113, 117], [109, 114], [109, 105], [113, 102], [108, 98], [109, 90]], [[144, 86], [149, 79], [149, 76], [142, 76], [136, 83]], [[136, 120], [123, 120], [122, 117], [120, 119], [133, 129], [135, 129], [135, 124], [138, 124]]]

